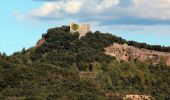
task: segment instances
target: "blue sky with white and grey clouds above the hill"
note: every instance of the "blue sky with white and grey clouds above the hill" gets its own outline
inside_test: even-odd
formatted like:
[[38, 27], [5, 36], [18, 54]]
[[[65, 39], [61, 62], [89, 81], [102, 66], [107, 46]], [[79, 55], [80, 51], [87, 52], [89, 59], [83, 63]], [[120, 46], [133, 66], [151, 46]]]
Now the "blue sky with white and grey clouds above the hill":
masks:
[[170, 46], [170, 0], [2, 0], [0, 52], [33, 47], [47, 29], [88, 23], [127, 40]]

